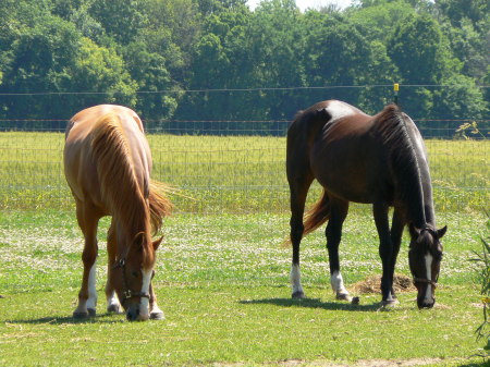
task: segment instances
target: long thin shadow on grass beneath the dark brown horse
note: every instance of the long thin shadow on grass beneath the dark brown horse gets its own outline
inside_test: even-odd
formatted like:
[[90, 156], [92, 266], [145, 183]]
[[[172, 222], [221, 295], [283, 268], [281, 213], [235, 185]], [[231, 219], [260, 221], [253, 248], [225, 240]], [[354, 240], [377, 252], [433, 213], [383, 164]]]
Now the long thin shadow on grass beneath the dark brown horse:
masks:
[[280, 307], [305, 307], [305, 308], [322, 308], [328, 310], [346, 310], [346, 311], [377, 311], [389, 310], [382, 308], [380, 303], [370, 305], [352, 305], [340, 302], [322, 302], [319, 298], [262, 298], [262, 299], [243, 299], [243, 305], [274, 305]]

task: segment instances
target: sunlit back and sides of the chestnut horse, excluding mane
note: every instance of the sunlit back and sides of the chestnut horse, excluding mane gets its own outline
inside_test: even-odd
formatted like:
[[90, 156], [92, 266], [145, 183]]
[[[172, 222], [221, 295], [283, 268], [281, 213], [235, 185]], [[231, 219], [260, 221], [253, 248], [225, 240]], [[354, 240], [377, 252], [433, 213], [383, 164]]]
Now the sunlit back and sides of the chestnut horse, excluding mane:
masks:
[[[144, 136], [143, 124], [138, 115], [131, 109], [122, 106], [100, 105], [87, 108], [76, 113], [69, 122], [65, 132], [64, 171], [66, 181], [79, 201], [91, 201], [107, 213], [107, 204], [102, 197], [100, 171], [101, 152], [103, 155], [115, 151], [106, 139], [103, 131], [121, 130], [121, 135], [127, 140], [127, 150], [132, 156], [133, 168], [137, 180], [145, 184], [149, 181], [151, 157], [148, 143]], [[105, 146], [107, 145], [107, 146]], [[147, 189], [146, 189], [147, 191]]]

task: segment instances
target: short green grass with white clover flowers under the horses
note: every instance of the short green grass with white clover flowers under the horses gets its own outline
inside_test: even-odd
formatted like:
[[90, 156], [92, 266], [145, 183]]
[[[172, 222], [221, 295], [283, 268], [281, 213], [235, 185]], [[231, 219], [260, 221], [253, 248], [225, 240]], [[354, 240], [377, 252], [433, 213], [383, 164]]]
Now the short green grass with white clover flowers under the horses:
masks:
[[[475, 264], [478, 229], [444, 213], [450, 230], [437, 291], [438, 307], [419, 311], [415, 294], [380, 311], [380, 295], [360, 295], [360, 305], [334, 299], [328, 286], [322, 231], [304, 240], [303, 282], [308, 299], [290, 298], [291, 249], [282, 215], [177, 215], [166, 220], [158, 253], [156, 289], [167, 319], [130, 323], [105, 314], [107, 254], [99, 231], [99, 316], [85, 322], [71, 314], [78, 292], [82, 237], [74, 215], [44, 210], [0, 213], [0, 365], [244, 365], [299, 359], [305, 365], [352, 364], [358, 359], [429, 359], [460, 366], [482, 343]], [[35, 223], [26, 225], [26, 223]], [[369, 215], [347, 217], [341, 266], [347, 288], [381, 272], [377, 235]], [[408, 274], [407, 242], [397, 272]], [[60, 351], [65, 353], [61, 354]]]

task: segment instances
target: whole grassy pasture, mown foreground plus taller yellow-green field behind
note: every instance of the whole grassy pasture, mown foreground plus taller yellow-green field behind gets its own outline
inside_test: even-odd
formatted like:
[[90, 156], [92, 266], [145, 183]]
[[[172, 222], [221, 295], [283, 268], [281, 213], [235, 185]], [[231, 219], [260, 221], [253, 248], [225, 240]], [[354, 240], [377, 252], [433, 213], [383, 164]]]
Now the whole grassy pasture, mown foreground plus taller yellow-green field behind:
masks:
[[[302, 244], [308, 299], [291, 299], [284, 138], [149, 135], [154, 178], [181, 188], [164, 221], [155, 278], [163, 321], [105, 313], [99, 231], [98, 316], [71, 315], [82, 236], [62, 175], [60, 133], [0, 134], [0, 365], [478, 365], [477, 271], [487, 217], [489, 142], [428, 140], [440, 225], [448, 224], [437, 306], [413, 292], [391, 311], [380, 294], [334, 299], [322, 231]], [[317, 198], [318, 188], [309, 195]], [[340, 247], [347, 289], [381, 273], [370, 209], [354, 206]], [[397, 273], [409, 274], [407, 238]], [[356, 294], [353, 294], [356, 295]], [[364, 362], [359, 362], [364, 360]], [[366, 362], [369, 360], [369, 362]], [[364, 363], [364, 365], [363, 365]]]

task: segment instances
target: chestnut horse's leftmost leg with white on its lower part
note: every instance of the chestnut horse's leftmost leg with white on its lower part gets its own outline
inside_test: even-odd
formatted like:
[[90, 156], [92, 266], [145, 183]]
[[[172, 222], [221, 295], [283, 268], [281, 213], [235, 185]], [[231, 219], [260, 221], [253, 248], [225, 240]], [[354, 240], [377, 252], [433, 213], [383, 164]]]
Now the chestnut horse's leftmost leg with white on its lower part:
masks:
[[97, 224], [100, 217], [95, 211], [89, 210], [85, 205], [76, 203], [76, 218], [84, 233], [85, 245], [82, 254], [84, 272], [82, 277], [82, 288], [78, 293], [78, 306], [73, 316], [85, 318], [96, 315], [97, 290], [96, 290], [96, 259], [97, 259]]

